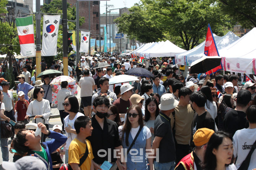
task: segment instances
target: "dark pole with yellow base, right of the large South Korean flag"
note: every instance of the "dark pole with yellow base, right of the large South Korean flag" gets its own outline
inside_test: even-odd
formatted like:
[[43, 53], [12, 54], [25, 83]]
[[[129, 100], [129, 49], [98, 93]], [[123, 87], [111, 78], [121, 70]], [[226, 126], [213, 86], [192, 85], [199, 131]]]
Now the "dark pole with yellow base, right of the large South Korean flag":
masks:
[[[39, 0], [40, 1], [40, 0]], [[67, 21], [67, 2], [62, 0], [62, 31], [63, 31], [63, 73], [68, 76], [68, 21]]]

